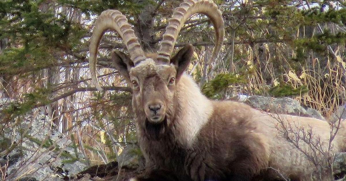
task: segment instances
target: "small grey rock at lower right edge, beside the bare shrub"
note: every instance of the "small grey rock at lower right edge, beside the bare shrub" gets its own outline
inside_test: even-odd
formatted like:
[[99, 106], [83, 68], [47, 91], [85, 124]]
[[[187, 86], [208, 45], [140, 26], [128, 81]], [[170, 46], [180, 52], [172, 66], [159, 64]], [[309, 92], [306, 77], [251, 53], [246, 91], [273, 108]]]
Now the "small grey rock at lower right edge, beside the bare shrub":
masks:
[[333, 172], [338, 181], [346, 181], [346, 152], [335, 154]]

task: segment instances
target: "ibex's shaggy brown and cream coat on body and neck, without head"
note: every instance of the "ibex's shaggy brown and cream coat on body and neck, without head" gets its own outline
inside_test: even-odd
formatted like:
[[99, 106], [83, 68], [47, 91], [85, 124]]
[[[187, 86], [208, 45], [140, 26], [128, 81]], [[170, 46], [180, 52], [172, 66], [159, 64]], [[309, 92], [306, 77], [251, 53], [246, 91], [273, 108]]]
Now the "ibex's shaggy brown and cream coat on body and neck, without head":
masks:
[[[171, 126], [140, 126], [145, 115], [136, 112], [137, 135], [148, 172], [171, 170], [180, 180], [310, 180], [314, 167], [279, 132], [279, 120], [312, 127], [327, 150], [326, 121], [291, 115], [271, 115], [233, 101], [211, 101], [186, 74], [177, 83]], [[142, 117], [143, 116], [143, 117]], [[156, 127], [155, 127], [156, 126]], [[333, 152], [345, 151], [345, 124], [333, 142]], [[157, 136], [155, 134], [161, 134]], [[309, 145], [301, 143], [302, 149]]]

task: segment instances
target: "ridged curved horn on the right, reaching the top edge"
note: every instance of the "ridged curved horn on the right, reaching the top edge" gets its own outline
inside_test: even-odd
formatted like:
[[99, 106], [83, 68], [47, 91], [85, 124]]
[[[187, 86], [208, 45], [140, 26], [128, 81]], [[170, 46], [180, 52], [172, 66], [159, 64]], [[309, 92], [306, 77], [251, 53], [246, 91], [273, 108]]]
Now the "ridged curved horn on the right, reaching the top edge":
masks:
[[166, 32], [163, 34], [157, 60], [166, 63], [170, 62], [170, 56], [173, 52], [174, 43], [180, 29], [183, 27], [185, 21], [195, 13], [207, 15], [213, 23], [216, 33], [216, 43], [213, 54], [207, 63], [209, 64], [216, 58], [224, 42], [225, 35], [224, 20], [222, 19], [221, 11], [211, 0], [184, 0], [184, 2], [173, 11], [173, 17], [169, 20]]

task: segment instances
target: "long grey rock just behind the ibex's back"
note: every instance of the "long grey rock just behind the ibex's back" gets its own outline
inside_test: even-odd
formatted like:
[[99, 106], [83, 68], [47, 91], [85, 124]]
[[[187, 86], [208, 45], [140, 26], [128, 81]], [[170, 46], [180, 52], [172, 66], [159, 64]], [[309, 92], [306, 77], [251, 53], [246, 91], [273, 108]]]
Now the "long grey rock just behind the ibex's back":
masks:
[[298, 101], [287, 97], [271, 98], [263, 96], [239, 95], [238, 100], [245, 102], [254, 108], [262, 109], [266, 112], [307, 116], [325, 120], [325, 118], [317, 110], [312, 108], [304, 108]]

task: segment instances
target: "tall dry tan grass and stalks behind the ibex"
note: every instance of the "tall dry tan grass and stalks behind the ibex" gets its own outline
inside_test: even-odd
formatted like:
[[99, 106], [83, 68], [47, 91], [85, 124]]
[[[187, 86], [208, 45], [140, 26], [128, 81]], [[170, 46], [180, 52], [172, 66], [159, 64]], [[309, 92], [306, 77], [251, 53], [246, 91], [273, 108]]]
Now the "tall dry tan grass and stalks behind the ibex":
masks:
[[[235, 4], [236, 2], [234, 1]], [[231, 25], [238, 22], [236, 17], [233, 15], [225, 16], [228, 17], [225, 20], [228, 30], [225, 38], [227, 42], [233, 43], [223, 46], [220, 56], [212, 68], [205, 64], [210, 57], [212, 46], [196, 47], [196, 58], [191, 63], [190, 71], [193, 72], [201, 87], [203, 83], [212, 80], [219, 73], [234, 75], [246, 73], [247, 83], [229, 85], [224, 92], [225, 95], [222, 96], [223, 98], [238, 93], [268, 96], [268, 89], [278, 84], [291, 85], [293, 88], [305, 85], [309, 91], [295, 96], [294, 99], [305, 106], [318, 110], [327, 119], [330, 119], [333, 112], [346, 103], [344, 45], [333, 45], [331, 48], [329, 46], [324, 55], [306, 51], [304, 52], [306, 59], [303, 62], [292, 63], [292, 58], [297, 55], [297, 52], [290, 42], [244, 42], [243, 39], [239, 39], [235, 31], [230, 31], [233, 28]], [[195, 18], [203, 18], [203, 16], [196, 16]], [[209, 32], [210, 24], [201, 24], [202, 28], [198, 31], [189, 28], [189, 25], [191, 24], [185, 26], [188, 28], [183, 32], [182, 42], [191, 42], [191, 39], [194, 42], [205, 39], [212, 42], [213, 32]], [[313, 32], [321, 33], [322, 29], [319, 26], [314, 27]], [[333, 30], [334, 34], [345, 29], [344, 26], [340, 27], [335, 24], [328, 24], [323, 28]], [[303, 29], [305, 30], [305, 27]], [[260, 33], [266, 34], [270, 31], [270, 27], [268, 27], [261, 29]], [[197, 33], [201, 36], [196, 38]], [[246, 34], [256, 35], [258, 31], [248, 28]], [[121, 40], [113, 35], [115, 33], [107, 33], [108, 38], [121, 43]], [[209, 36], [203, 37], [202, 35]], [[297, 30], [292, 32], [292, 35], [304, 38], [305, 32]], [[108, 40], [103, 41], [106, 45], [112, 45]], [[109, 60], [105, 58], [109, 51], [110, 49], [100, 50], [105, 64], [109, 63], [107, 62]], [[66, 55], [60, 58], [59, 61], [69, 62], [75, 57]], [[13, 76], [10, 80], [6, 80], [10, 87], [7, 89], [7, 94], [11, 99], [21, 102], [26, 93], [45, 88], [48, 83], [54, 87], [53, 93], [48, 96], [49, 98], [61, 96], [74, 88], [92, 87], [87, 66], [86, 63], [75, 63], [71, 66], [58, 66], [52, 69], [39, 70], [32, 74]], [[102, 74], [100, 79], [102, 85], [127, 87], [117, 71], [108, 68], [98, 71]], [[116, 160], [124, 145], [136, 140], [130, 99], [130, 93], [123, 91], [106, 91], [103, 93], [81, 91], [50, 103], [42, 109], [45, 109], [45, 113], [49, 115], [51, 121], [65, 136], [72, 135], [72, 141], [78, 145], [78, 149], [87, 158], [88, 163], [93, 165]], [[16, 123], [19, 124], [20, 120], [21, 117], [17, 118]], [[334, 128], [333, 125], [331, 128], [332, 133], [337, 130], [337, 127]], [[292, 142], [294, 143], [294, 140]], [[316, 150], [319, 152], [319, 149], [316, 148]], [[311, 160], [316, 163], [320, 162], [314, 159]], [[330, 163], [330, 160], [326, 162]], [[2, 168], [6, 165], [0, 166], [0, 172], [4, 172], [6, 169]]]

